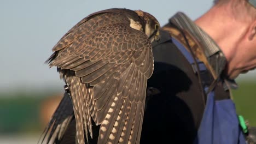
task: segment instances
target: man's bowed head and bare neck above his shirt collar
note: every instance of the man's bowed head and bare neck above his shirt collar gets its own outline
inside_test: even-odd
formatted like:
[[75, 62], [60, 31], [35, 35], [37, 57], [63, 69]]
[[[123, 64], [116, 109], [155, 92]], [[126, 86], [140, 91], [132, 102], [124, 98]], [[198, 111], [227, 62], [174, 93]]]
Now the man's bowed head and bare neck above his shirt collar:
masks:
[[248, 0], [215, 0], [196, 23], [222, 49], [230, 79], [256, 67], [256, 8]]

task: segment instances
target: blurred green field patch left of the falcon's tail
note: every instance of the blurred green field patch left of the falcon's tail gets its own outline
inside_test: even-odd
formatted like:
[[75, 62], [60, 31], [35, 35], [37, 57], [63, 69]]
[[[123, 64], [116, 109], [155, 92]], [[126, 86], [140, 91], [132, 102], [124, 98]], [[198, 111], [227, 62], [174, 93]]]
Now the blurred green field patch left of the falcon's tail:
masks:
[[56, 92], [0, 93], [0, 135], [34, 134], [42, 131], [40, 102]]

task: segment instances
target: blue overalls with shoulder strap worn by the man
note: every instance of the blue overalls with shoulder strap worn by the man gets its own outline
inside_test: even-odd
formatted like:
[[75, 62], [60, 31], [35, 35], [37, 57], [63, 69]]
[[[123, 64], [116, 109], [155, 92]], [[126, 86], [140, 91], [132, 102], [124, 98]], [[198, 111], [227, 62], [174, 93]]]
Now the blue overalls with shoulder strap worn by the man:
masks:
[[[193, 66], [195, 63], [191, 53], [175, 38], [172, 38], [172, 42], [183, 53], [184, 57], [187, 58], [193, 70], [197, 71], [196, 67]], [[207, 70], [205, 64], [198, 61], [198, 59], [197, 64], [199, 65], [199, 72]], [[208, 87], [205, 87], [205, 92], [207, 90]], [[246, 143], [238, 122], [234, 102], [231, 99], [215, 100], [214, 95], [214, 90], [207, 95], [206, 107], [194, 143]]]

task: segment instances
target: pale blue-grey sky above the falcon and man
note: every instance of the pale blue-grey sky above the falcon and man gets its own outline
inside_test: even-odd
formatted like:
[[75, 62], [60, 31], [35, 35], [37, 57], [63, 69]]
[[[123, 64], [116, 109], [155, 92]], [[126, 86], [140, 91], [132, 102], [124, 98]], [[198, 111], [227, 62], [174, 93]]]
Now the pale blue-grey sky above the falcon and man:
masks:
[[[52, 47], [87, 15], [108, 8], [141, 9], [164, 25], [177, 11], [195, 20], [212, 6], [211, 0], [1, 0], [0, 91], [10, 88], [62, 88], [56, 68], [44, 64]], [[238, 79], [256, 80], [255, 71]]]

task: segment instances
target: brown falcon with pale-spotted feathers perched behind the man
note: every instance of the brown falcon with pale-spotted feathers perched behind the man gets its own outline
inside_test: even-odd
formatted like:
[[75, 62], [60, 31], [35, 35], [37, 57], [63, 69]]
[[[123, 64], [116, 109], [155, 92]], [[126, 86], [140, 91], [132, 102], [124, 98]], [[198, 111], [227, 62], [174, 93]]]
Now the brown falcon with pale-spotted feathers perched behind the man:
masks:
[[77, 143], [92, 137], [92, 120], [101, 125], [98, 143], [139, 143], [159, 31], [144, 11], [107, 9], [85, 17], [54, 46], [46, 63], [69, 88]]

